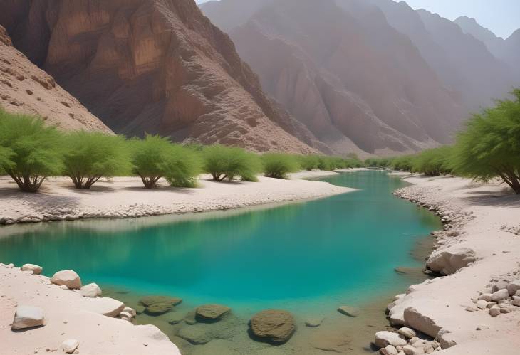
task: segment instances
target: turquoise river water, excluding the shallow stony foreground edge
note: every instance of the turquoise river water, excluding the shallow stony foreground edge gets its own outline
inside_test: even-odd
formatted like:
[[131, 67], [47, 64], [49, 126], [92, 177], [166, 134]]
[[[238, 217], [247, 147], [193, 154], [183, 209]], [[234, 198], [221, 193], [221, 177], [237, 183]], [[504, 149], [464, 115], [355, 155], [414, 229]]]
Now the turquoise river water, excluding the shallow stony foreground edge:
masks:
[[70, 268], [83, 283], [125, 290], [120, 295], [128, 302], [160, 294], [182, 297], [179, 308], [186, 311], [227, 304], [242, 327], [261, 309], [288, 309], [300, 320], [338, 317], [342, 304], [367, 307], [405, 290], [410, 278], [393, 269], [423, 265], [411, 252], [440, 227], [437, 218], [392, 196], [405, 183], [383, 171], [321, 181], [359, 190], [157, 224], [153, 218], [46, 223], [0, 239], [0, 261], [36, 263], [46, 275]]

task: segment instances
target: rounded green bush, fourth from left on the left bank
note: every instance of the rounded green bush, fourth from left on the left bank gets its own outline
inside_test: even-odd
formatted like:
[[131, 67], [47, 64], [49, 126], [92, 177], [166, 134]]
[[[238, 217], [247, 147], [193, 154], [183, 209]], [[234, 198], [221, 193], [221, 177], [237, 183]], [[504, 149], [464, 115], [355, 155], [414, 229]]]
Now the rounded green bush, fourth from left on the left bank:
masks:
[[237, 176], [254, 181], [255, 175], [261, 171], [259, 157], [237, 147], [214, 144], [203, 150], [202, 157], [204, 172], [211, 174], [215, 181], [232, 181]]

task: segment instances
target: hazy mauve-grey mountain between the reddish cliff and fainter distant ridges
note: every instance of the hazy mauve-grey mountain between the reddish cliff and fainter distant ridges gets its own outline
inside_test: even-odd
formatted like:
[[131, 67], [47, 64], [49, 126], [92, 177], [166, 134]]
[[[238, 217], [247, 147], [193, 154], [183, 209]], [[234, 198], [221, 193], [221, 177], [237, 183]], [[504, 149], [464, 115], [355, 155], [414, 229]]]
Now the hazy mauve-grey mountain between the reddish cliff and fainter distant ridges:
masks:
[[[229, 28], [218, 14], [240, 2], [202, 10]], [[333, 0], [264, 0], [251, 9], [250, 18], [251, 11], [233, 18], [244, 24], [229, 31], [241, 58], [264, 90], [335, 152], [431, 147], [448, 142], [462, 121], [457, 95], [380, 10], [341, 9]]]

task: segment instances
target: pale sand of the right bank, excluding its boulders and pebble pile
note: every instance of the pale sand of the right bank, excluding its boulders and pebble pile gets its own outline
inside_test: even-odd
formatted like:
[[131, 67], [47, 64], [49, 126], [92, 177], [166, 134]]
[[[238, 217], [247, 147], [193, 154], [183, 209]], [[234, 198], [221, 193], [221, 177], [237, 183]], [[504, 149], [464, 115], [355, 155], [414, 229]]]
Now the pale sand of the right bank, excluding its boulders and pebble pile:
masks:
[[520, 354], [520, 307], [498, 317], [489, 316], [487, 309], [465, 310], [474, 306], [472, 297], [484, 292], [490, 280], [520, 279], [520, 235], [515, 234], [520, 231], [520, 196], [498, 182], [477, 184], [445, 176], [405, 180], [415, 184], [405, 190], [409, 196], [444, 211], [471, 213], [462, 220], [462, 234], [445, 238], [439, 250], [471, 248], [477, 262], [453, 275], [410, 287], [399, 307], [415, 307], [452, 332], [450, 339], [458, 345], [443, 351], [446, 354]]

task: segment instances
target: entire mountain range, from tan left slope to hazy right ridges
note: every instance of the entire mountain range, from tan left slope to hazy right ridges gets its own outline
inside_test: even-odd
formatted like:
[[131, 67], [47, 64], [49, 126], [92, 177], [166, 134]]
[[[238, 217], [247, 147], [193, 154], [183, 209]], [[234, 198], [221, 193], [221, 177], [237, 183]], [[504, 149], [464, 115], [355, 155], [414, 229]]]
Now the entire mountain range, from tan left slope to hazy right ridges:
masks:
[[520, 86], [520, 31], [504, 40], [405, 2], [201, 9], [193, 0], [0, 0], [13, 45], [4, 41], [2, 54], [55, 83], [42, 105], [24, 85], [43, 86], [2, 70], [0, 105], [66, 129], [365, 156], [450, 142], [469, 112]]

